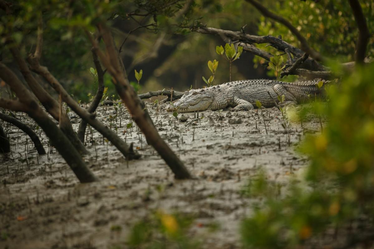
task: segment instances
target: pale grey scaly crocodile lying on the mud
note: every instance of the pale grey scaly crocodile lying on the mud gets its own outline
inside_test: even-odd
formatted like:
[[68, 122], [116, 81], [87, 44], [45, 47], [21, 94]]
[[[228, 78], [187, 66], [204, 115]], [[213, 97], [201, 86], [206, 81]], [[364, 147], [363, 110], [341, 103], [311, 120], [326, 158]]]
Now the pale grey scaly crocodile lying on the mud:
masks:
[[[232, 106], [231, 111], [248, 111], [254, 109], [256, 101], [266, 108], [277, 105], [296, 105], [305, 103], [314, 96], [325, 97], [324, 86], [329, 81], [299, 81], [294, 83], [277, 80], [240, 80], [202, 89], [186, 91], [174, 104], [166, 110], [178, 112], [194, 112], [220, 110]], [[284, 95], [280, 103], [278, 96]]]

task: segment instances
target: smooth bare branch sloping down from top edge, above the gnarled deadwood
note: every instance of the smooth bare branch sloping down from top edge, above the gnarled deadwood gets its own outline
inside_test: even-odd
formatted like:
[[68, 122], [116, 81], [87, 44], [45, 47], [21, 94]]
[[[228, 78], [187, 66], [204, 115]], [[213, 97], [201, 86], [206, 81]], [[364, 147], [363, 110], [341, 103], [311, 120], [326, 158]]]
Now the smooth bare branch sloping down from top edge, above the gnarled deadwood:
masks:
[[276, 15], [275, 13], [269, 11], [268, 9], [266, 9], [266, 7], [264, 7], [262, 4], [260, 4], [256, 0], [246, 0], [246, 1], [248, 3], [251, 3], [264, 16], [269, 17], [269, 18], [271, 18], [271, 19], [273, 19], [273, 20], [275, 20], [275, 21], [277, 21], [277, 22], [285, 25], [292, 32], [292, 34], [295, 35], [295, 37], [297, 38], [297, 40], [300, 41], [301, 49], [304, 52], [310, 54], [310, 56], [313, 59], [316, 59], [316, 60], [322, 60], [323, 59], [320, 53], [318, 53], [316, 50], [314, 50], [311, 47], [309, 47], [308, 42], [305, 39], [305, 37], [303, 35], [301, 35], [300, 32], [288, 20], [286, 20], [282, 16]]

